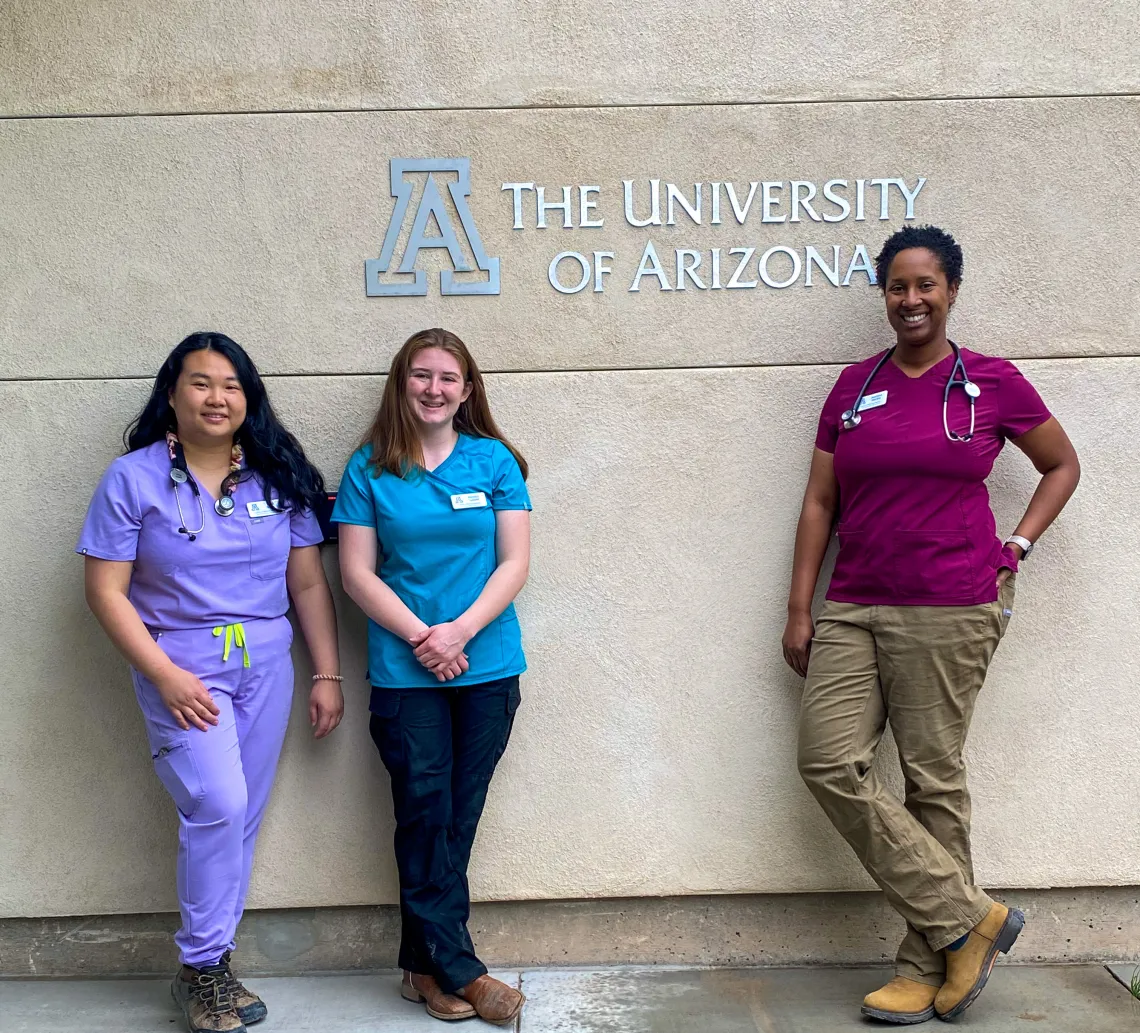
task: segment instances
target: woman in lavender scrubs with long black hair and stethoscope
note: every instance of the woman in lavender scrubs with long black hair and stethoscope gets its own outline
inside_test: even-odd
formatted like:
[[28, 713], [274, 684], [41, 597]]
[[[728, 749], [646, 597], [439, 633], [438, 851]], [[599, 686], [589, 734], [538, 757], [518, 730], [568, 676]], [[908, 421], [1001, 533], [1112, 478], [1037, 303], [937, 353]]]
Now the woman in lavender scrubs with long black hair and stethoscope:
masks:
[[192, 334], [170, 353], [127, 449], [76, 551], [178, 807], [182, 968], [171, 992], [190, 1033], [235, 1033], [266, 1017], [229, 959], [288, 723], [290, 599], [317, 672], [316, 738], [344, 709], [314, 516], [324, 482], [223, 334]]

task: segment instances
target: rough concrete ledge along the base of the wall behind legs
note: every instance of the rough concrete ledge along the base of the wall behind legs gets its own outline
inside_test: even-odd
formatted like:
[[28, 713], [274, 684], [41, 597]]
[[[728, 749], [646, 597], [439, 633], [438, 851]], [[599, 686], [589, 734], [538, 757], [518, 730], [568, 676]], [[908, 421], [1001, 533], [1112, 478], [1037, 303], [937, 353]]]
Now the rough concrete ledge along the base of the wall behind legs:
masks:
[[[1013, 962], [1117, 962], [1140, 942], [1140, 888], [996, 893], [1026, 912]], [[0, 919], [0, 977], [150, 976], [176, 965], [170, 913]], [[902, 937], [879, 894], [765, 894], [474, 904], [471, 932], [496, 967], [878, 965]], [[396, 966], [393, 906], [247, 912], [249, 975]]]

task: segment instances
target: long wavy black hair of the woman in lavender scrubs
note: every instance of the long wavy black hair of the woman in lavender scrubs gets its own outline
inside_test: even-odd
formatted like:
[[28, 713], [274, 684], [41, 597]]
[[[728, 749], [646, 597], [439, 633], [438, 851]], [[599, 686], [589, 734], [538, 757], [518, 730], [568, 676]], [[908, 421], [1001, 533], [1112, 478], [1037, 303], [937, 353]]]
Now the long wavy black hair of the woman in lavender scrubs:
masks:
[[245, 392], [245, 422], [235, 438], [245, 453], [246, 467], [266, 488], [266, 497], [279, 498], [283, 505], [287, 503], [293, 509], [319, 513], [325, 502], [325, 479], [306, 458], [296, 438], [277, 418], [253, 360], [241, 344], [225, 334], [190, 334], [166, 356], [142, 412], [123, 434], [127, 450], [137, 452], [155, 441], [164, 441], [168, 431], [177, 431], [170, 395], [182, 372], [182, 363], [193, 351], [217, 351], [229, 359], [237, 373]]

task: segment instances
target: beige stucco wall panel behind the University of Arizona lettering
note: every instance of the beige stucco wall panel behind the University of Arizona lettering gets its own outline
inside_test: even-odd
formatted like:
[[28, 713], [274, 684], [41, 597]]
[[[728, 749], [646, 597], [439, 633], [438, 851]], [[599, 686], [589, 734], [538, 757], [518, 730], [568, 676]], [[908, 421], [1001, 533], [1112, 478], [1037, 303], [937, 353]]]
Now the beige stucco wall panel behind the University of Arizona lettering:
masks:
[[[1140, 164], [1138, 129], [1134, 97], [0, 122], [0, 275], [19, 331], [0, 341], [0, 375], [153, 375], [172, 336], [205, 324], [249, 341], [267, 372], [367, 373], [386, 368], [393, 342], [425, 319], [478, 342], [489, 369], [848, 361], [882, 340], [865, 274], [846, 288], [817, 270], [812, 287], [801, 273], [783, 290], [701, 292], [686, 280], [682, 295], [675, 252], [702, 255], [706, 285], [714, 247], [724, 284], [738, 246], [756, 249], [742, 283], [758, 279], [759, 255], [779, 245], [801, 262], [808, 245], [829, 261], [840, 245], [846, 273], [856, 245], [874, 254], [903, 223], [897, 188], [886, 221], [879, 189], [866, 187], [864, 221], [853, 212], [814, 222], [800, 209], [798, 223], [763, 222], [758, 189], [743, 225], [723, 192], [714, 226], [710, 184], [733, 182], [742, 208], [751, 181], [782, 182], [771, 214], [789, 219], [792, 180], [822, 194], [828, 180], [846, 179], [854, 201], [857, 179], [896, 176], [912, 190], [923, 177], [915, 219], [947, 226], [968, 246], [955, 325], [963, 340], [1011, 357], [1134, 355], [1140, 265], [1129, 261], [1135, 244], [1122, 228], [1140, 223], [1125, 174]], [[421, 155], [471, 158], [471, 212], [500, 258], [499, 296], [440, 299], [434, 282], [427, 298], [365, 295], [364, 262], [378, 255], [392, 211], [388, 158]], [[701, 225], [678, 202], [674, 226], [627, 225], [624, 181], [648, 218], [654, 178], [691, 205], [701, 184]], [[545, 185], [548, 201], [572, 186], [576, 225], [577, 187], [596, 185], [591, 214], [604, 225], [564, 229], [551, 213], [538, 229], [531, 192], [526, 228], [513, 229], [502, 185], [518, 181]], [[821, 220], [839, 213], [819, 201], [814, 210]], [[410, 225], [409, 214], [405, 241]], [[628, 291], [646, 241], [670, 292], [653, 278]], [[602, 294], [553, 290], [556, 254], [595, 250], [616, 255]], [[431, 255], [422, 252], [425, 263]], [[561, 269], [568, 284], [577, 273]], [[783, 279], [790, 261], [777, 258], [771, 274]], [[1085, 284], [1114, 287], [1075, 303]]]

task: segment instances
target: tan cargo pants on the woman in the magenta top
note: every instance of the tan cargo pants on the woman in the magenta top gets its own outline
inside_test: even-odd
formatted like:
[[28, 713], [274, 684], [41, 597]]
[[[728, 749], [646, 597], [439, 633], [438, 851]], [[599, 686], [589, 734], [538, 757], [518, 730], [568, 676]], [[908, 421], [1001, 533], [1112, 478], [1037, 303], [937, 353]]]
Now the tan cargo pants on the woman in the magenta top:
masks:
[[[897, 974], [942, 985], [942, 950], [993, 903], [974, 885], [962, 748], [1013, 608], [1013, 578], [976, 607], [828, 602], [812, 640], [799, 771], [891, 906], [906, 919]], [[905, 800], [873, 768], [890, 722]]]

